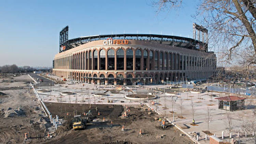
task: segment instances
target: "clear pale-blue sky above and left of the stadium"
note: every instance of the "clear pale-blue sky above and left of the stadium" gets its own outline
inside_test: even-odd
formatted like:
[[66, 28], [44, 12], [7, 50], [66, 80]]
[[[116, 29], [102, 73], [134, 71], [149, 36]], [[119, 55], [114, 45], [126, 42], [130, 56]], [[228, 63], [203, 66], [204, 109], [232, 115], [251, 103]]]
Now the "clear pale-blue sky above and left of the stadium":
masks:
[[143, 33], [191, 38], [197, 3], [156, 13], [153, 0], [0, 0], [0, 66], [52, 67], [59, 32], [69, 39], [98, 34]]

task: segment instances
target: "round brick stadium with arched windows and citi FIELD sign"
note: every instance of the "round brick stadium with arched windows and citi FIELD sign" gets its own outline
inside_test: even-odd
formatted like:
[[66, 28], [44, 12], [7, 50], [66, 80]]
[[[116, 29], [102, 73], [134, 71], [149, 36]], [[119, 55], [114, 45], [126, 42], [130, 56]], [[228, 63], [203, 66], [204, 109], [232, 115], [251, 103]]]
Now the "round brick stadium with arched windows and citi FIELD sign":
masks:
[[[60, 32], [53, 73], [101, 85], [134, 85], [207, 79], [216, 55], [208, 52], [208, 31], [193, 24], [194, 38], [159, 34], [109, 34], [68, 40]], [[196, 39], [196, 36], [198, 39]]]

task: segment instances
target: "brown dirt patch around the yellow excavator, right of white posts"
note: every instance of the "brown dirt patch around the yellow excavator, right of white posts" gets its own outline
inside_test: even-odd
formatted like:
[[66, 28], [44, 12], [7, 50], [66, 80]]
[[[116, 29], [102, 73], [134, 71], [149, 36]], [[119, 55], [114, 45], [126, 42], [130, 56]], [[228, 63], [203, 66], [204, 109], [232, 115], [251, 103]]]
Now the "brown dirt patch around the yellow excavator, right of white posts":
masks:
[[[54, 115], [58, 114], [59, 118], [67, 116], [66, 114], [69, 112], [68, 121], [73, 117], [75, 110], [77, 110], [77, 114], [83, 114], [83, 110], [89, 110], [88, 104], [46, 103], [46, 106]], [[65, 112], [60, 113], [60, 107]], [[96, 112], [96, 107], [100, 115]], [[68, 128], [60, 127], [59, 135], [52, 140], [47, 140], [46, 143], [193, 143], [187, 136], [180, 136], [181, 132], [171, 125], [168, 125], [167, 129], [161, 129], [159, 122], [154, 120], [159, 115], [155, 113], [149, 115], [149, 111], [143, 110], [144, 107], [128, 107], [128, 109], [130, 109], [130, 112], [127, 112], [129, 117], [124, 118], [122, 114], [123, 111], [127, 111], [126, 107], [92, 104], [90, 110], [99, 121], [90, 122], [85, 130], [74, 131], [71, 129], [70, 120]], [[102, 121], [103, 117], [106, 117], [106, 122]], [[124, 131], [121, 130], [122, 125], [124, 125]], [[142, 135], [139, 135], [140, 129]]]

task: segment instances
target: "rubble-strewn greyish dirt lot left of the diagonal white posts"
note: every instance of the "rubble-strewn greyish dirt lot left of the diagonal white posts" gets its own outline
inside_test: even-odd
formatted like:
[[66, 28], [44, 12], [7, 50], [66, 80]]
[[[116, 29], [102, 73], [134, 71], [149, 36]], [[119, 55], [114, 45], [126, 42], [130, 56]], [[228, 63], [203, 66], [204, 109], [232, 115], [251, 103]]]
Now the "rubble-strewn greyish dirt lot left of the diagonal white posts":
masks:
[[[40, 143], [44, 141], [47, 118], [28, 85], [28, 75], [2, 76], [0, 87], [0, 143]], [[9, 82], [9, 83], [8, 83]], [[20, 88], [22, 87], [22, 88]], [[15, 113], [16, 112], [16, 113]], [[30, 140], [24, 140], [28, 133]]]

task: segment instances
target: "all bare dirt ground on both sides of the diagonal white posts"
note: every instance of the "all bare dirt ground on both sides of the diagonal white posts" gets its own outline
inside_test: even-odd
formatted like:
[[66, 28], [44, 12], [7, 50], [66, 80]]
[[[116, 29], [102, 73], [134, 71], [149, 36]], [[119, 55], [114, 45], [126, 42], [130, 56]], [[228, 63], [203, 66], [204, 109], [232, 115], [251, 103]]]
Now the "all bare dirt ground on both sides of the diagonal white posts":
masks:
[[[0, 143], [193, 143], [172, 126], [161, 129], [154, 120], [157, 114], [148, 114], [146, 107], [129, 107], [129, 117], [122, 117], [126, 107], [122, 105], [46, 103], [53, 116], [68, 115], [68, 126], [60, 126], [47, 139], [47, 129], [52, 126], [37, 98], [29, 87], [28, 75], [0, 77]], [[98, 115], [97, 110], [100, 112]], [[75, 114], [91, 110], [94, 118], [85, 130], [74, 131], [71, 119]], [[103, 122], [103, 117], [106, 121]], [[111, 120], [113, 124], [111, 125]], [[122, 125], [125, 130], [121, 131]], [[142, 135], [139, 135], [140, 129]], [[28, 133], [28, 139], [24, 134]]]

